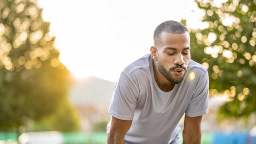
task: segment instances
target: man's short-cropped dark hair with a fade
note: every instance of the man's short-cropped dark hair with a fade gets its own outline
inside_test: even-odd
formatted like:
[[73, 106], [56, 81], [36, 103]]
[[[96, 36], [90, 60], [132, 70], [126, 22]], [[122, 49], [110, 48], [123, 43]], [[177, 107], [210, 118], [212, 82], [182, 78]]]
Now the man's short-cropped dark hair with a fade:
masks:
[[187, 28], [181, 23], [174, 20], [168, 20], [159, 24], [154, 31], [154, 46], [161, 41], [162, 32], [168, 32], [171, 34], [183, 34], [188, 32]]

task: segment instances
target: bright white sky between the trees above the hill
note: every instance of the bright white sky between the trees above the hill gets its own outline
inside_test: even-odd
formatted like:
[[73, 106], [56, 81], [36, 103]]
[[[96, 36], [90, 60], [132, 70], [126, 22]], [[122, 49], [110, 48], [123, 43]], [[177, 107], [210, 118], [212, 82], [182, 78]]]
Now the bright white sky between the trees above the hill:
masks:
[[43, 19], [56, 36], [60, 62], [75, 78], [116, 82], [122, 70], [150, 53], [156, 26], [187, 20], [204, 27], [204, 11], [192, 0], [39, 0]]

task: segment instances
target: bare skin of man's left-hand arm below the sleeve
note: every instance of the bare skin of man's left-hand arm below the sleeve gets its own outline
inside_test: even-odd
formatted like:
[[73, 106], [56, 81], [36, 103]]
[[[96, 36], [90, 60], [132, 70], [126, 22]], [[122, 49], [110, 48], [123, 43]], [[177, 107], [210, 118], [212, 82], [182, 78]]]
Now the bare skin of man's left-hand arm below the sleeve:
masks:
[[124, 135], [131, 124], [132, 120], [120, 120], [112, 116], [107, 144], [124, 144]]

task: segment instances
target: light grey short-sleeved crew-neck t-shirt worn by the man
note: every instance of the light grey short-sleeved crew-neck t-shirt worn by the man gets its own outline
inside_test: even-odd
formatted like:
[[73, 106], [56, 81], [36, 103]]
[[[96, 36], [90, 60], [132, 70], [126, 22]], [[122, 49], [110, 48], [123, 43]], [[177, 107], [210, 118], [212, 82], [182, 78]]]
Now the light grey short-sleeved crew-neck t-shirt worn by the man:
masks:
[[208, 112], [207, 69], [190, 60], [184, 79], [169, 92], [154, 79], [150, 54], [128, 65], [116, 84], [108, 112], [132, 120], [125, 144], [168, 144], [180, 118]]

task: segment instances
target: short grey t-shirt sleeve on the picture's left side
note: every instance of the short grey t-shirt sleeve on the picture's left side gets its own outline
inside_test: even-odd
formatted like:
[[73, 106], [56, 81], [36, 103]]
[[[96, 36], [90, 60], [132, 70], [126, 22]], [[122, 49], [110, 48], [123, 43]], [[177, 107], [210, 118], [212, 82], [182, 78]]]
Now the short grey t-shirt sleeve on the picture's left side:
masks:
[[122, 72], [110, 102], [108, 112], [121, 120], [132, 120], [138, 101], [138, 86], [132, 78]]

